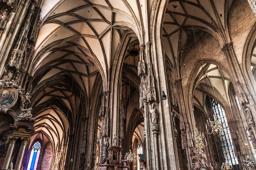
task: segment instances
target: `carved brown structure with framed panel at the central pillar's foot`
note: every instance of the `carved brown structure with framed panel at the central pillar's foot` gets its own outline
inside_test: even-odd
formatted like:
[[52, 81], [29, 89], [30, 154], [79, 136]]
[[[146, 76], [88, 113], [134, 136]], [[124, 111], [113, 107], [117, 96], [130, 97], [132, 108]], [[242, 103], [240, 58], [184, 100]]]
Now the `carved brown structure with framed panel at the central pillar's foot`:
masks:
[[108, 148], [108, 158], [98, 164], [99, 170], [130, 170], [127, 160], [122, 160], [123, 149], [118, 146]]

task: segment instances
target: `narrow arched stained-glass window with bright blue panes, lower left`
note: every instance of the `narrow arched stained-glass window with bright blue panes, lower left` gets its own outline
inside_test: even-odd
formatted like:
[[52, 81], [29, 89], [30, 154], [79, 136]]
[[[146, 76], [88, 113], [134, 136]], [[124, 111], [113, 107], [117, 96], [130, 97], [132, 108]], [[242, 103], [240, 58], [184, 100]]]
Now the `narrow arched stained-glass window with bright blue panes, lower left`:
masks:
[[27, 170], [36, 170], [39, 155], [40, 155], [40, 150], [41, 150], [41, 143], [37, 141], [32, 146], [30, 157], [29, 157], [29, 163], [27, 165]]

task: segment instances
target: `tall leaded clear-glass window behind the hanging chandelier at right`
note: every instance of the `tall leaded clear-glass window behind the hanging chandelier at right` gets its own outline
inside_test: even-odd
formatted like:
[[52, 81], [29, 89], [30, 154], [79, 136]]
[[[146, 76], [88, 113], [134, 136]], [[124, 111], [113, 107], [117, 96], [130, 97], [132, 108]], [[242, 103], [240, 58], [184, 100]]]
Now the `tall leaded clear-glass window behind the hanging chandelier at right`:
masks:
[[220, 104], [213, 99], [212, 99], [212, 104], [213, 104], [213, 112], [214, 112], [213, 116], [215, 117], [215, 119], [217, 119], [219, 122], [222, 123], [223, 129], [224, 129], [224, 133], [220, 135], [220, 142], [222, 145], [222, 150], [224, 153], [225, 160], [229, 162], [230, 165], [238, 165], [238, 159], [234, 152], [233, 141], [229, 131], [229, 126], [227, 124], [225, 111], [220, 106]]

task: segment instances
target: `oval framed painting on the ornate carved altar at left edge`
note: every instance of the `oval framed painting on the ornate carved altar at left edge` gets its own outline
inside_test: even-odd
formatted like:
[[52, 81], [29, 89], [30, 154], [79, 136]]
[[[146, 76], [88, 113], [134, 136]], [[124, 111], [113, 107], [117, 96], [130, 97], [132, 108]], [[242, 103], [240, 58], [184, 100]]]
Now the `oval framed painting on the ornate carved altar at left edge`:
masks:
[[0, 90], [0, 107], [11, 108], [18, 101], [18, 92], [12, 87]]

